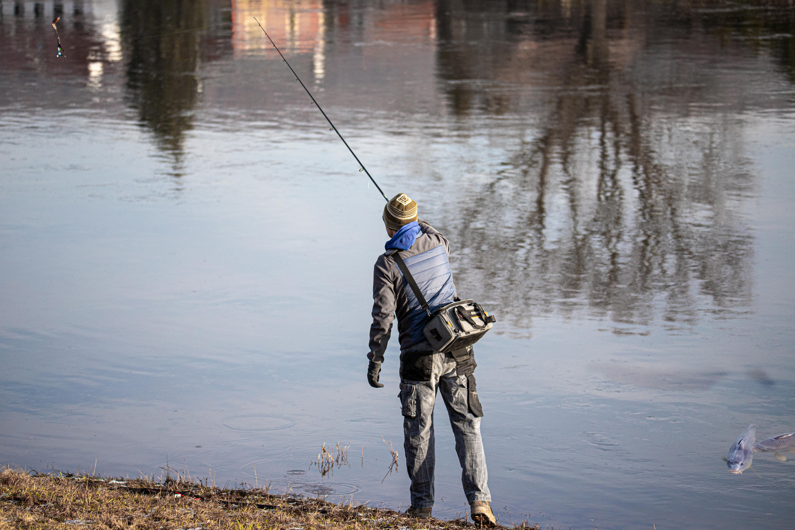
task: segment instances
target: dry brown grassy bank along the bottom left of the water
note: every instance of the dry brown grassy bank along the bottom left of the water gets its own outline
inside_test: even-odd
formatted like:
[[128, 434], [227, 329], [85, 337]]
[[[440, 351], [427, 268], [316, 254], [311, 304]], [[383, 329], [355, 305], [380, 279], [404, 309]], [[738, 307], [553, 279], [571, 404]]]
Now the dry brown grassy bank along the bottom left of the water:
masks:
[[[465, 520], [415, 520], [387, 509], [322, 498], [273, 495], [266, 489], [223, 489], [170, 475], [112, 479], [36, 474], [0, 468], [0, 530], [6, 528], [472, 528]], [[519, 528], [538, 528], [522, 525]]]

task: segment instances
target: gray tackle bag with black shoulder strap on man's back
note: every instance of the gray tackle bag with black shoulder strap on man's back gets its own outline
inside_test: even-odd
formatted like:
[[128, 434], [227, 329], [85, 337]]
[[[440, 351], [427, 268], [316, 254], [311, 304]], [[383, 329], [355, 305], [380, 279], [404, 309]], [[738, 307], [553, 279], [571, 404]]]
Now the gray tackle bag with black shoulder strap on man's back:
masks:
[[486, 335], [497, 321], [494, 315], [489, 315], [480, 304], [472, 300], [458, 300], [431, 312], [428, 301], [425, 300], [400, 253], [395, 251], [392, 257], [409, 283], [414, 296], [417, 297], [417, 301], [428, 313], [429, 322], [425, 324], [422, 332], [425, 334], [425, 339], [431, 343], [433, 350], [445, 354], [448, 351], [471, 346]]

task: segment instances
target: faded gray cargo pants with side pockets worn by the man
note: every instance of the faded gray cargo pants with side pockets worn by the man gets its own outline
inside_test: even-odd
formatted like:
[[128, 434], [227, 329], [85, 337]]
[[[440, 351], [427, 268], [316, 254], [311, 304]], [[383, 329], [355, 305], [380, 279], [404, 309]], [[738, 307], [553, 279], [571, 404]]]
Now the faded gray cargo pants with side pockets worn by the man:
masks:
[[[433, 435], [433, 406], [436, 390], [448, 409], [461, 464], [463, 493], [470, 504], [491, 501], [487, 486], [486, 455], [480, 437], [480, 407], [475, 387], [475, 354], [456, 361], [453, 354], [405, 352], [401, 354], [401, 399], [405, 462], [411, 478], [411, 505], [433, 505], [433, 478], [436, 464]], [[456, 355], [461, 358], [461, 355]]]

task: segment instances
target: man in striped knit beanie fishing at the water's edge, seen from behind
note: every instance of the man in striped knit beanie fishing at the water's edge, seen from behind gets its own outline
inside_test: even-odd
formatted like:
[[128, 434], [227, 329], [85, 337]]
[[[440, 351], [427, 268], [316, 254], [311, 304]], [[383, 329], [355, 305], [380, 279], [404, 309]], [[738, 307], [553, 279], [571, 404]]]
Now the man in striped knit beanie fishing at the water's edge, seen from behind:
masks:
[[476, 524], [493, 526], [491, 494], [486, 484], [486, 457], [480, 438], [480, 407], [475, 389], [475, 354], [471, 346], [452, 353], [433, 351], [422, 329], [428, 322], [412, 289], [395, 261], [395, 253], [409, 269], [431, 311], [458, 300], [448, 256], [450, 246], [442, 234], [427, 222], [417, 219], [417, 203], [403, 193], [386, 203], [383, 213], [386, 253], [375, 262], [373, 277], [373, 324], [370, 327], [370, 364], [367, 381], [378, 382], [386, 342], [397, 313], [400, 340], [400, 376], [406, 467], [411, 478], [411, 508], [406, 513], [417, 518], [431, 516], [433, 506], [433, 404], [440, 391], [456, 436], [456, 452], [461, 462], [461, 482], [471, 517]]

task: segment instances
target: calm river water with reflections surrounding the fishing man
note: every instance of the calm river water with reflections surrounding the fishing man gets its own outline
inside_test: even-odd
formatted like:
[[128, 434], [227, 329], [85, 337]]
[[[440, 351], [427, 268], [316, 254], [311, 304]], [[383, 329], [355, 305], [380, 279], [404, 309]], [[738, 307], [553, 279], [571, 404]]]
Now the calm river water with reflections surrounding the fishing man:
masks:
[[0, 6], [0, 463], [407, 505], [397, 345], [365, 379], [383, 199], [257, 17], [498, 316], [503, 523], [791, 528], [792, 459], [720, 460], [795, 430], [788, 1]]

